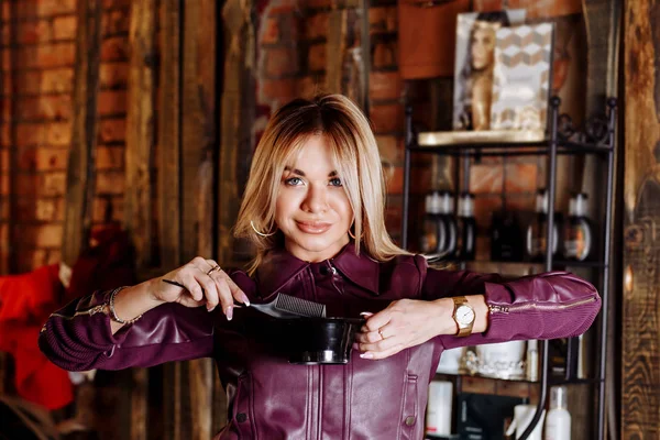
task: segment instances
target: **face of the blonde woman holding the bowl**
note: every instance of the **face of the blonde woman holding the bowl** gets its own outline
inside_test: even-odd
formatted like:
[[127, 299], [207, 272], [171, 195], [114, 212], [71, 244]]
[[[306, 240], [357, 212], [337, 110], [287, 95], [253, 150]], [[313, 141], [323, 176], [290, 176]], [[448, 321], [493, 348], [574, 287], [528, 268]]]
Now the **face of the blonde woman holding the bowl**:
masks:
[[349, 242], [353, 210], [321, 135], [310, 136], [282, 175], [275, 222], [285, 248], [307, 262], [331, 258]]

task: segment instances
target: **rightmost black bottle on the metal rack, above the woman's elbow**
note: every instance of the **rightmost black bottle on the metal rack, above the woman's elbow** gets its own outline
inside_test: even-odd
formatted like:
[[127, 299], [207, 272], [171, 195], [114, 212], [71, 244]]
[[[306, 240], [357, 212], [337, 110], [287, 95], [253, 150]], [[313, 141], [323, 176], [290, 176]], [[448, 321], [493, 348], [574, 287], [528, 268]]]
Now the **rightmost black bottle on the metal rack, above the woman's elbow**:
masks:
[[563, 255], [566, 260], [588, 258], [592, 246], [592, 226], [586, 218], [586, 194], [579, 193], [569, 202], [569, 219], [563, 233]]

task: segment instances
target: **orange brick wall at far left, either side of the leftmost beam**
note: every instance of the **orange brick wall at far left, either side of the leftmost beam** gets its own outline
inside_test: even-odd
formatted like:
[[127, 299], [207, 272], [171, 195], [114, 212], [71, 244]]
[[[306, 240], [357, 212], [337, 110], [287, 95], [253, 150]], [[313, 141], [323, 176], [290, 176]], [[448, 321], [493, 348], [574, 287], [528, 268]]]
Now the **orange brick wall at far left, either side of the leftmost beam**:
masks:
[[[121, 217], [130, 2], [103, 1], [94, 222]], [[2, 10], [2, 257], [23, 272], [59, 261], [72, 141], [76, 0], [6, 1]], [[8, 267], [9, 194], [15, 261]]]

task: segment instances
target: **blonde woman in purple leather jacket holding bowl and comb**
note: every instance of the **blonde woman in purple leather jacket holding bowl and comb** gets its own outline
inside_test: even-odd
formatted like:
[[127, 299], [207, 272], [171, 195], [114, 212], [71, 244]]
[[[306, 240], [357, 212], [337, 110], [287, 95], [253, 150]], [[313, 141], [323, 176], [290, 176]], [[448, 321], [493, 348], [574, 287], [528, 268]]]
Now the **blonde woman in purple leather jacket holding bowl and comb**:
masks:
[[[506, 282], [435, 271], [398, 249], [385, 230], [374, 135], [344, 97], [279, 109], [250, 175], [235, 226], [256, 246], [248, 272], [196, 257], [80, 298], [44, 326], [44, 353], [66, 370], [212, 356], [229, 398], [218, 439], [420, 439], [444, 349], [575, 336], [598, 312], [594, 287], [568, 273]], [[366, 317], [360, 354], [346, 365], [272, 354], [233, 304], [277, 293], [323, 302], [328, 316]]]

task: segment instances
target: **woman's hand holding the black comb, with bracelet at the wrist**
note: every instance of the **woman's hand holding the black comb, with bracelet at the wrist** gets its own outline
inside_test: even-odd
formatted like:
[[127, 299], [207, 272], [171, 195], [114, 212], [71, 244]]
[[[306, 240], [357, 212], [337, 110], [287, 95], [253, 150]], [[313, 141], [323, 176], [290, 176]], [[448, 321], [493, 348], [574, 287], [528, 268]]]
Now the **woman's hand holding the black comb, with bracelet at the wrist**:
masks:
[[[163, 279], [178, 283], [185, 288], [164, 283]], [[208, 311], [220, 305], [228, 320], [233, 317], [234, 299], [250, 305], [248, 296], [218, 263], [201, 256], [152, 279], [151, 296], [156, 301], [178, 302], [186, 307], [206, 306]]]

